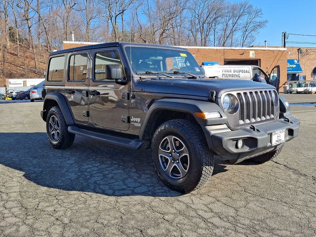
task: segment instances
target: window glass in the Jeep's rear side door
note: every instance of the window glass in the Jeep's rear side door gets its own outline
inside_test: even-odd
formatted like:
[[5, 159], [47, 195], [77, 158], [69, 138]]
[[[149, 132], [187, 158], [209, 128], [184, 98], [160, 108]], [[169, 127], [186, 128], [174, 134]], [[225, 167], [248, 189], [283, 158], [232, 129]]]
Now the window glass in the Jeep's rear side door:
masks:
[[87, 62], [88, 55], [75, 54], [70, 56], [68, 80], [69, 81], [82, 81], [86, 79], [87, 75]]

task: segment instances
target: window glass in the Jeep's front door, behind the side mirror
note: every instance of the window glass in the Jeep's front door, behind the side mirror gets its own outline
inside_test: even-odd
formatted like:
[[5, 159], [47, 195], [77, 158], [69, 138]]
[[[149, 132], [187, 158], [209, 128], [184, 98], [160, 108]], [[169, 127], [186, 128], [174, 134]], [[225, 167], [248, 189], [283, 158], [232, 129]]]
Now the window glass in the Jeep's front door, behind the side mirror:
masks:
[[120, 61], [118, 51], [106, 51], [96, 53], [94, 59], [94, 80], [111, 80], [111, 78], [108, 78], [108, 74], [106, 72], [106, 66], [111, 64], [119, 66], [121, 72], [123, 72], [123, 66]]

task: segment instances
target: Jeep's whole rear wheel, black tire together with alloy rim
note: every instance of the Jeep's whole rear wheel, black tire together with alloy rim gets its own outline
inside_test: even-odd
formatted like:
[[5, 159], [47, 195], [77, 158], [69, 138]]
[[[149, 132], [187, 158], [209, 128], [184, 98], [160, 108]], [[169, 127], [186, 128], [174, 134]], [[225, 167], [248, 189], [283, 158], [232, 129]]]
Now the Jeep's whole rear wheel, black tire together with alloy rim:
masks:
[[68, 132], [68, 125], [58, 106], [50, 108], [46, 118], [46, 132], [50, 144], [56, 149], [67, 149], [75, 140], [75, 134]]

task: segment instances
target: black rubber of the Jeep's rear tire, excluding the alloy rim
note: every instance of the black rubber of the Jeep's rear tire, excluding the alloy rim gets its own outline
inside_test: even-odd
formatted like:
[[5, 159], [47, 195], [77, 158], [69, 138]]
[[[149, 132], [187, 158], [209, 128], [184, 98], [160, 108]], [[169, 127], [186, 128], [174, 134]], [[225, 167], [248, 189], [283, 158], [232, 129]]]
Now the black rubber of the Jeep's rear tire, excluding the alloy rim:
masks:
[[[55, 116], [59, 121], [60, 135], [57, 141], [54, 141], [49, 132], [49, 121], [52, 116]], [[75, 134], [68, 132], [68, 125], [58, 106], [50, 108], [46, 118], [46, 132], [50, 144], [56, 149], [67, 149], [71, 147], [75, 140]]]

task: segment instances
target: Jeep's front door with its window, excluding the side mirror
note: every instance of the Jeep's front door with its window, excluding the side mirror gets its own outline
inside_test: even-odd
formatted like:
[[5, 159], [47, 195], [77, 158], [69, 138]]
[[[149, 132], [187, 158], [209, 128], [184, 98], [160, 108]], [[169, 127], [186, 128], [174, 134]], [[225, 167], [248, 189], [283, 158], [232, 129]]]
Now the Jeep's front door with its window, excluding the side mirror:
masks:
[[118, 84], [108, 78], [107, 65], [120, 68], [125, 77], [117, 49], [95, 49], [91, 53], [92, 74], [89, 85], [89, 114], [91, 122], [102, 128], [126, 131], [128, 123], [128, 83]]

